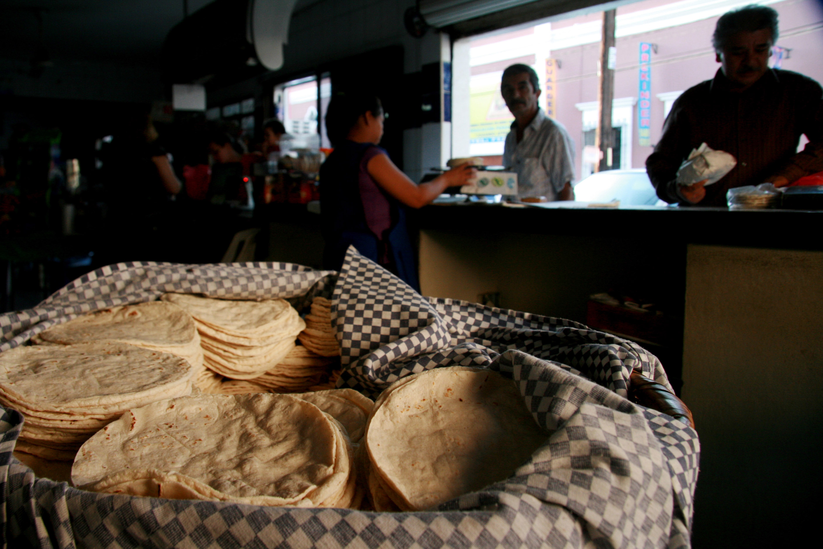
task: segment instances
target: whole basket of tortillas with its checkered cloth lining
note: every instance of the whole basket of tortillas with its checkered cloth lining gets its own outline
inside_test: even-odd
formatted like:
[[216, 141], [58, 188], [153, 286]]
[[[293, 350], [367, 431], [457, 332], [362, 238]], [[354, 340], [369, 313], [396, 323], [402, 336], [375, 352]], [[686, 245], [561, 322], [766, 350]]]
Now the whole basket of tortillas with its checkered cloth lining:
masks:
[[0, 334], [9, 547], [688, 539], [696, 433], [626, 398], [641, 370], [671, 390], [657, 358], [425, 298], [353, 247], [340, 271], [108, 265]]

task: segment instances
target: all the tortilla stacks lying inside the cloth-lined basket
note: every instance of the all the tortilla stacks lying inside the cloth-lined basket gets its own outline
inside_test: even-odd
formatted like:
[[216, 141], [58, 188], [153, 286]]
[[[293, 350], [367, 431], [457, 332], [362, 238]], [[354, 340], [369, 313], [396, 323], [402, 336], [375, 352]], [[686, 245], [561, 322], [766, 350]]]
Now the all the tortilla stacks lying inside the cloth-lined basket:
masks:
[[499, 482], [546, 440], [514, 381], [406, 376], [376, 404], [335, 388], [331, 302], [165, 293], [77, 316], [0, 353], [16, 457], [110, 494], [428, 509]]

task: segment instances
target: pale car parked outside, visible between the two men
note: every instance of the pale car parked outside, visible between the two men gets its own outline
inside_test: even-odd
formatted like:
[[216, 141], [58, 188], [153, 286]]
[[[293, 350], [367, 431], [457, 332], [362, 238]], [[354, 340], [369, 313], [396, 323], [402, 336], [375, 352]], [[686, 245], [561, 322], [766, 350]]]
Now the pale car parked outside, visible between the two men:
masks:
[[658, 199], [649, 175], [642, 168], [593, 173], [574, 186], [574, 200], [620, 201], [621, 205], [667, 205]]

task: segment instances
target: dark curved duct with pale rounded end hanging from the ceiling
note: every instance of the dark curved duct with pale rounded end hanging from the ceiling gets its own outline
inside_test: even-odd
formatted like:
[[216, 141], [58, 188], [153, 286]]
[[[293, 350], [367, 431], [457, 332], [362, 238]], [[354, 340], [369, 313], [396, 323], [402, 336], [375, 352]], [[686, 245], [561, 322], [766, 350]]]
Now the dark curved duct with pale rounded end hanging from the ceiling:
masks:
[[296, 0], [215, 0], [169, 31], [163, 45], [166, 82], [242, 77], [283, 65]]

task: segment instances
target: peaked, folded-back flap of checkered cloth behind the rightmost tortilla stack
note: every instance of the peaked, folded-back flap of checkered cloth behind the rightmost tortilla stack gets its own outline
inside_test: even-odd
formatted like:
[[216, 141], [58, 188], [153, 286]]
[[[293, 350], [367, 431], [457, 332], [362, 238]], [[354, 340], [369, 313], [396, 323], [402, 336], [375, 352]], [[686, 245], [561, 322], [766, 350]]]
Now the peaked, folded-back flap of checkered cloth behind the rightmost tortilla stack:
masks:
[[371, 396], [403, 376], [435, 367], [489, 367], [508, 349], [588, 377], [623, 397], [633, 369], [672, 390], [658, 358], [631, 341], [561, 318], [423, 298], [354, 248], [334, 288], [332, 322], [342, 348], [343, 386]]

